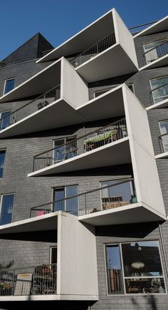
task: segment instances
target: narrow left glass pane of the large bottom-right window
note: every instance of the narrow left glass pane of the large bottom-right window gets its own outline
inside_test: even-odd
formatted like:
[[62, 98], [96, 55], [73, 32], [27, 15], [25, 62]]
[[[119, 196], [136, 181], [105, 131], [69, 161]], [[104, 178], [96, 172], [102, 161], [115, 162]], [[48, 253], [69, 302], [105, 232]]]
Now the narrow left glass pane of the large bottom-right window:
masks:
[[109, 246], [107, 250], [107, 283], [108, 294], [123, 293], [122, 267], [119, 246]]

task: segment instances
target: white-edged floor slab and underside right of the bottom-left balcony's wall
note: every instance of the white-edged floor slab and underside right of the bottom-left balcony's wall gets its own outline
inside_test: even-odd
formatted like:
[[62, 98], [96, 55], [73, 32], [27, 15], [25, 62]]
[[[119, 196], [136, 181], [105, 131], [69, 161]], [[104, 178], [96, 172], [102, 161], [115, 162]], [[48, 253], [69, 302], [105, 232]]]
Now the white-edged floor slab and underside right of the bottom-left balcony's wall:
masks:
[[85, 222], [94, 226], [105, 226], [115, 224], [131, 224], [139, 222], [165, 221], [166, 217], [147, 207], [142, 202], [116, 207], [110, 210], [95, 212], [90, 215], [78, 217], [80, 222]]

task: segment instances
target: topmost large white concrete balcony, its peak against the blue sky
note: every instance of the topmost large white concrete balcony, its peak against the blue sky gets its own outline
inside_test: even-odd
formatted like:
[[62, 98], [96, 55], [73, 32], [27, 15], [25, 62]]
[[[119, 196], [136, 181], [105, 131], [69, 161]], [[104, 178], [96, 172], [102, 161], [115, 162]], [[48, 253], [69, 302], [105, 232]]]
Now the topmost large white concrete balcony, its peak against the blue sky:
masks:
[[85, 81], [138, 71], [132, 35], [115, 9], [90, 24], [38, 62], [69, 57]]

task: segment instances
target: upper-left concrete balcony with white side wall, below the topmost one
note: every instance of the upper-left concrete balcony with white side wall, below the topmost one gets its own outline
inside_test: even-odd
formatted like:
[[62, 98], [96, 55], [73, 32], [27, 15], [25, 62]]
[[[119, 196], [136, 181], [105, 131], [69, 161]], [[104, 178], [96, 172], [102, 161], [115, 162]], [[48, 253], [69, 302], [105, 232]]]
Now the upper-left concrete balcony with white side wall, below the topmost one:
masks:
[[[32, 96], [20, 107], [18, 100]], [[0, 138], [85, 122], [76, 108], [88, 102], [88, 86], [61, 58], [0, 98], [1, 103], [14, 100], [19, 108], [1, 120]]]

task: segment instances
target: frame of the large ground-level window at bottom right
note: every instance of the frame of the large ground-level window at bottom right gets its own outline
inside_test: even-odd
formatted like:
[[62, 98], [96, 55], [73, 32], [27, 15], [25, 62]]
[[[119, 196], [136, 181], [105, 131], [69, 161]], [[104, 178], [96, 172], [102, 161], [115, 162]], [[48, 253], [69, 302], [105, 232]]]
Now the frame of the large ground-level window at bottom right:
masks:
[[[161, 267], [162, 267], [162, 277], [157, 277], [155, 276], [155, 278], [162, 278], [164, 279], [164, 287], [165, 287], [165, 292], [164, 293], [138, 293], [138, 294], [127, 294], [126, 293], [126, 288], [125, 288], [125, 279], [128, 279], [129, 277], [125, 277], [124, 275], [124, 264], [123, 264], [123, 257], [122, 257], [122, 244], [129, 244], [129, 243], [136, 243], [136, 242], [158, 242], [158, 249], [159, 249], [159, 259], [160, 259], [160, 264], [161, 264]], [[122, 267], [122, 285], [123, 285], [123, 291], [124, 293], [119, 293], [119, 294], [109, 294], [108, 293], [108, 281], [107, 281], [107, 247], [108, 246], [118, 246], [119, 249], [120, 249], [120, 259], [121, 259], [121, 267]], [[161, 253], [161, 246], [160, 246], [160, 242], [159, 242], [159, 239], [145, 239], [145, 240], [142, 240], [142, 239], [136, 239], [136, 240], [133, 240], [133, 241], [127, 241], [127, 242], [105, 242], [103, 244], [103, 247], [104, 247], [104, 259], [105, 259], [105, 282], [106, 282], [106, 292], [107, 292], [107, 296], [111, 296], [111, 297], [114, 297], [114, 296], [149, 296], [149, 295], [154, 295], [154, 296], [160, 296], [160, 295], [167, 295], [167, 281], [165, 281], [165, 273], [164, 273], [164, 267], [163, 267], [163, 262], [162, 262], [162, 253]], [[130, 277], [131, 279], [132, 277]], [[138, 278], [138, 277], [137, 277]], [[149, 276], [145, 276], [145, 277], [140, 277], [141, 279], [142, 278], [153, 278], [153, 277], [149, 277]]]

